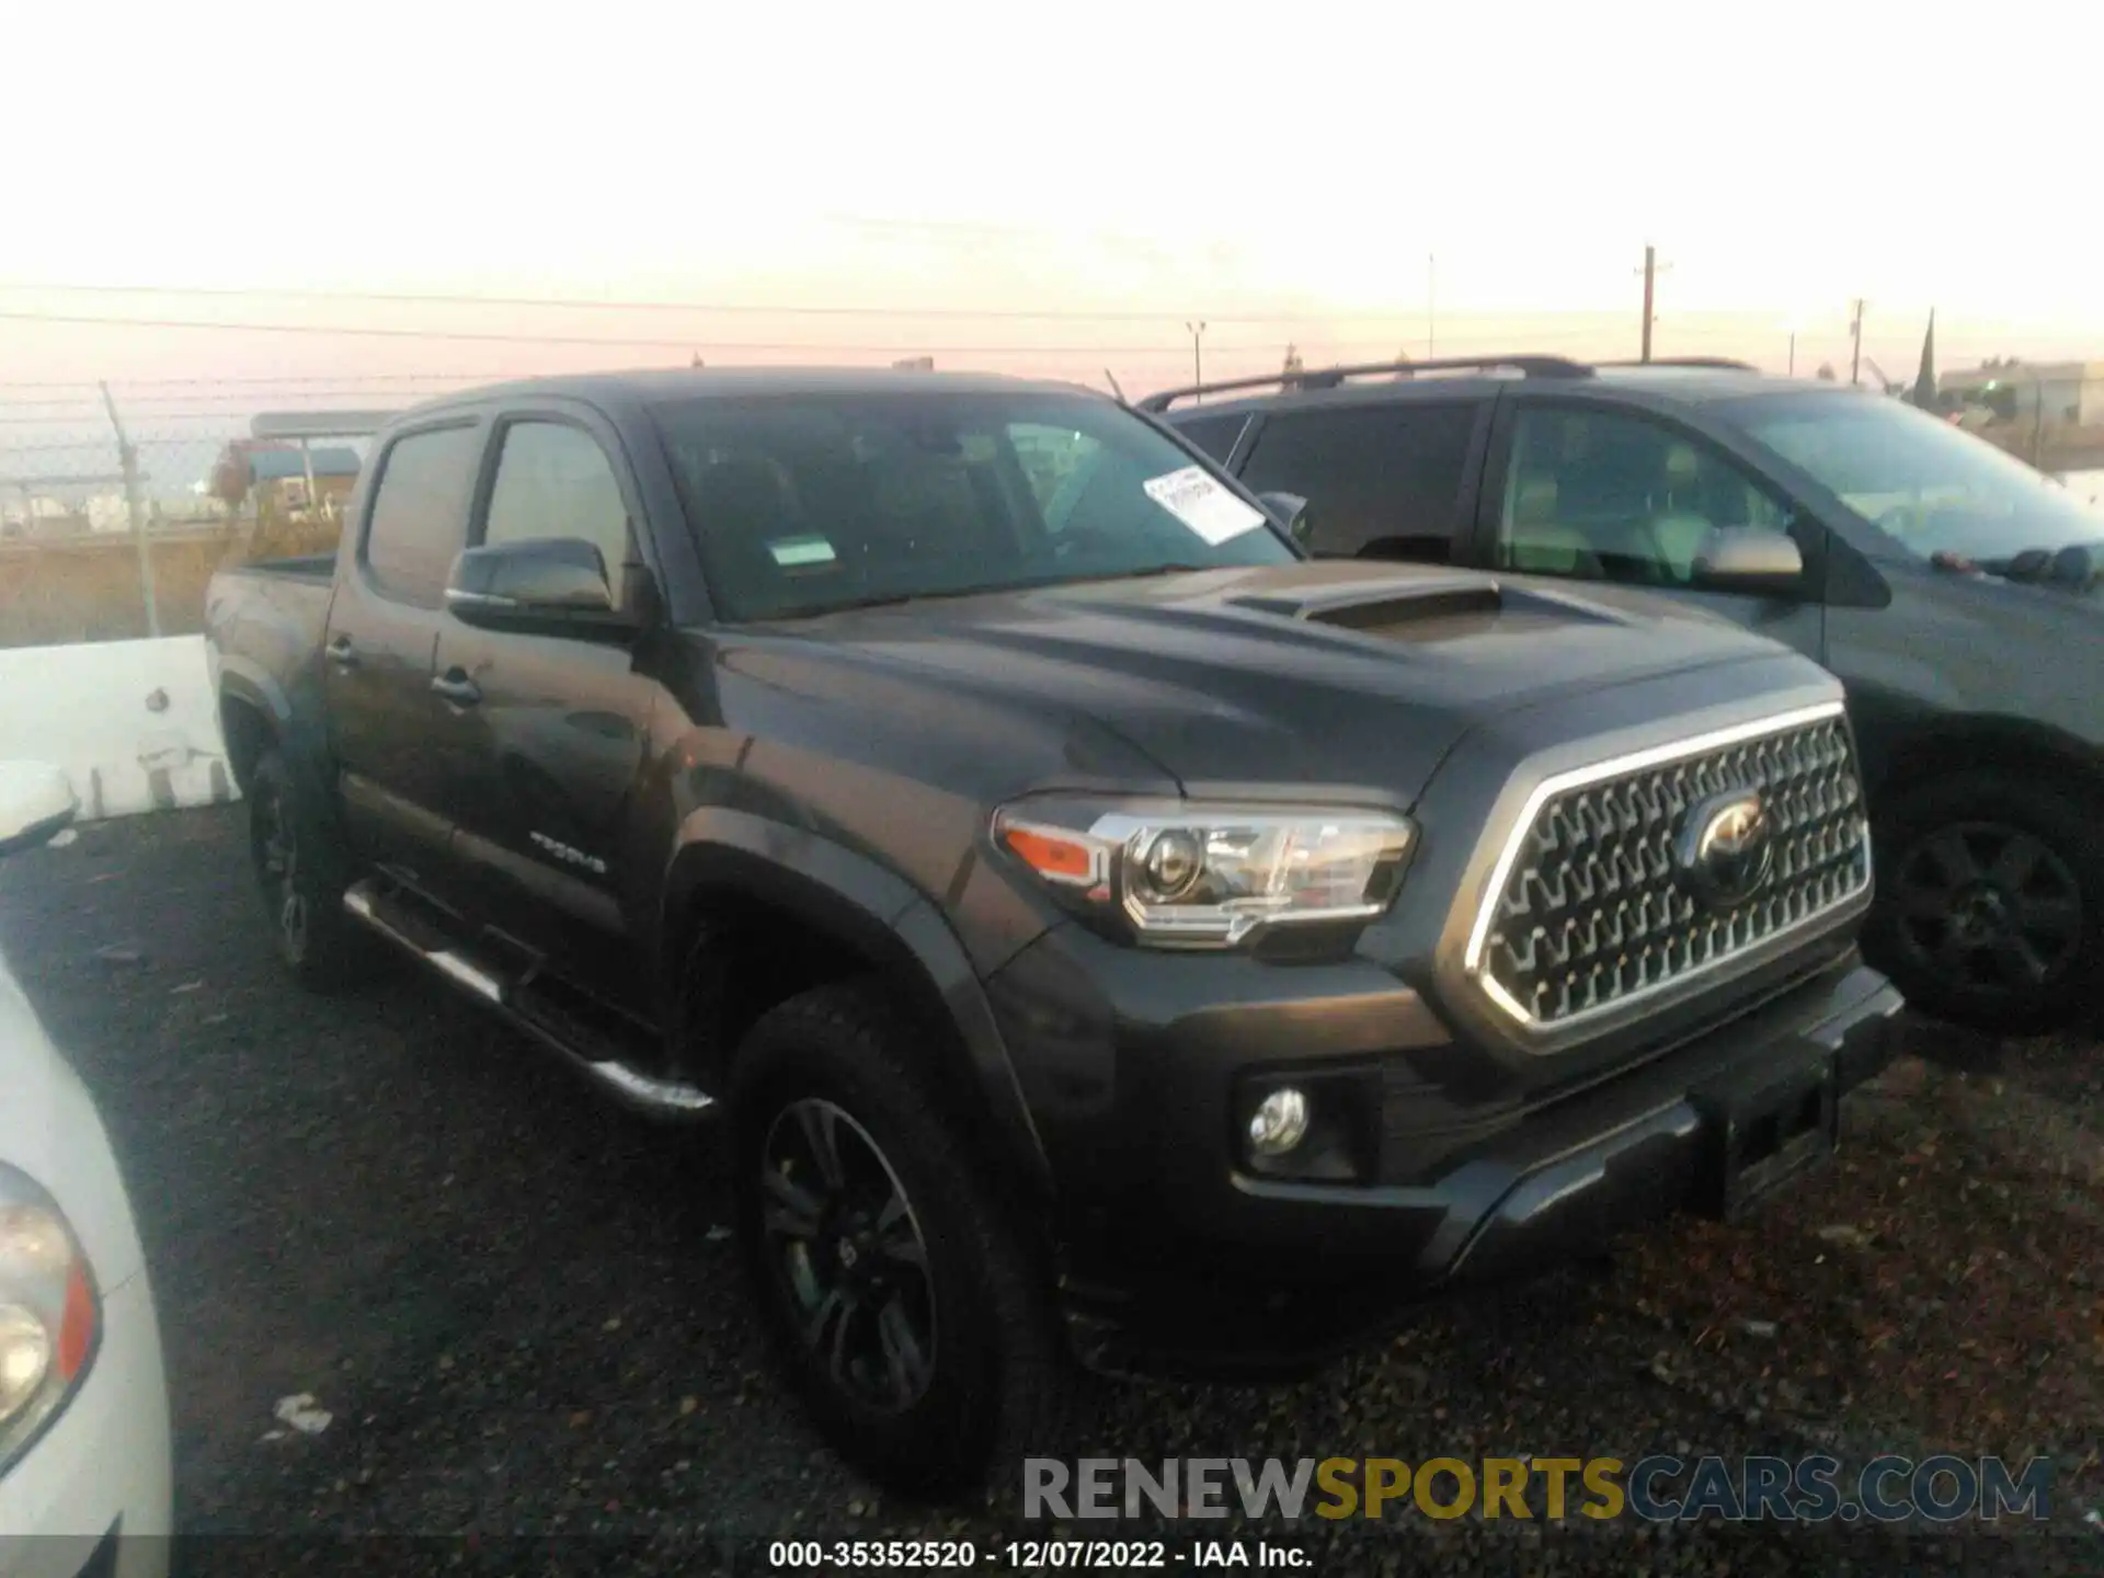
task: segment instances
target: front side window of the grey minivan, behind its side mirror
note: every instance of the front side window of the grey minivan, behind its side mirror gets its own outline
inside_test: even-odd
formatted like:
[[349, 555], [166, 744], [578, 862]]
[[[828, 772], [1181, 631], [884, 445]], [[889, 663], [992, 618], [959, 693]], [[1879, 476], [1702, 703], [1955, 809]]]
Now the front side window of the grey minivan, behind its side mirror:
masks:
[[1734, 461], [1647, 417], [1521, 408], [1498, 518], [1498, 566], [1683, 587], [1711, 530], [1788, 530]]

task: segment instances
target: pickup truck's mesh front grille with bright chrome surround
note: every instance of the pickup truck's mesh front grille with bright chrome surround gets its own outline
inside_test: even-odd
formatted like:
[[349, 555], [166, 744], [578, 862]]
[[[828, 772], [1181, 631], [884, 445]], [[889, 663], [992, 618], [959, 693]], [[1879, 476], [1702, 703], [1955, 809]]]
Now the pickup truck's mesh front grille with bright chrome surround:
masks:
[[[1765, 818], [1765, 879], [1740, 890], [1694, 858], [1734, 791]], [[1530, 1031], [1567, 1031], [1639, 997], [1772, 953], [1866, 894], [1870, 837], [1839, 703], [1544, 783], [1492, 873], [1469, 945], [1483, 993]], [[1742, 825], [1742, 823], [1738, 823]]]

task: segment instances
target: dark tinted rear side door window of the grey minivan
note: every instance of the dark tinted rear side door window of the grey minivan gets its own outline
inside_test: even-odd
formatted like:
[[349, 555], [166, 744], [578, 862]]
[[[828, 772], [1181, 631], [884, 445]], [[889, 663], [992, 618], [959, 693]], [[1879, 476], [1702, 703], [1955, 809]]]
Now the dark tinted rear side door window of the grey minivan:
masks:
[[1241, 484], [1307, 499], [1317, 553], [1445, 562], [1477, 410], [1408, 402], [1279, 412], [1265, 419]]

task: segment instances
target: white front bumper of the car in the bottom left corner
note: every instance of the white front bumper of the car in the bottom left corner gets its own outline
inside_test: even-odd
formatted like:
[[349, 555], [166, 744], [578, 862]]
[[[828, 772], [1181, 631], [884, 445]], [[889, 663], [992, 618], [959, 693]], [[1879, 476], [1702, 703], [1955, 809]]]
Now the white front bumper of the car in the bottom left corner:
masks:
[[80, 1391], [0, 1475], [0, 1572], [162, 1578], [168, 1519], [168, 1384], [139, 1273], [103, 1294], [103, 1340]]

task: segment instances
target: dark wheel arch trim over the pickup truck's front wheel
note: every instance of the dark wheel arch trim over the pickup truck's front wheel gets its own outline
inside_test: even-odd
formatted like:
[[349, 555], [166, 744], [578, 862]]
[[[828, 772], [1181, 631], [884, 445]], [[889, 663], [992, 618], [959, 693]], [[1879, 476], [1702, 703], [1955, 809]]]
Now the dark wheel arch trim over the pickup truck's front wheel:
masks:
[[677, 980], [686, 915], [705, 890], [730, 890], [795, 915], [875, 959], [940, 1010], [997, 1128], [999, 1151], [1029, 1185], [1052, 1191], [1052, 1166], [978, 972], [943, 911], [905, 877], [810, 829], [753, 812], [701, 808], [680, 823], [659, 922], [663, 980]]

